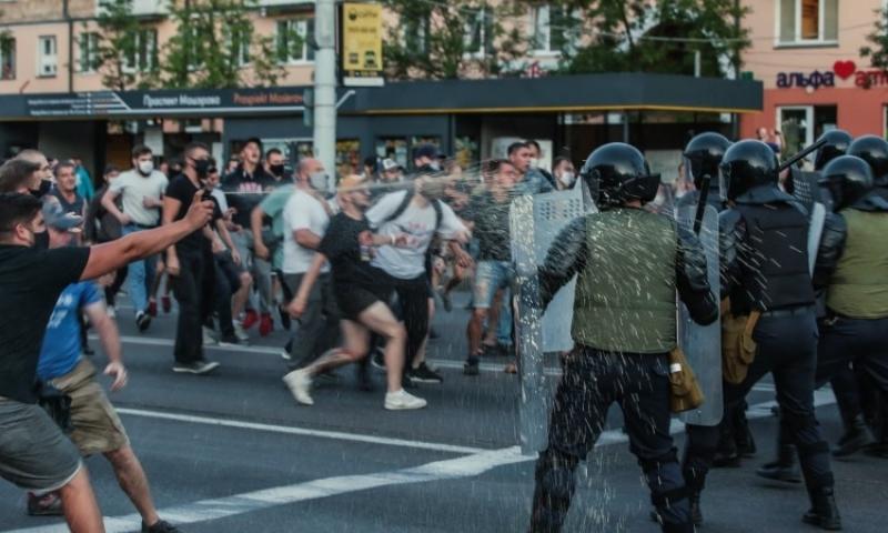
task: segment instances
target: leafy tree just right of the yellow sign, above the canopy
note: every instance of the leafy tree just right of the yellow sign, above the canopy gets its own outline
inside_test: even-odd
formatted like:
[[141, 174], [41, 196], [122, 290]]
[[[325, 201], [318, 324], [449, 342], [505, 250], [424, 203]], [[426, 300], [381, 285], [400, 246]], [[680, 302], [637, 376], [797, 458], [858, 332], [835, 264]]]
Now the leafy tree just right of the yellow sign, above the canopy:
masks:
[[521, 14], [508, 0], [383, 0], [395, 22], [383, 46], [386, 74], [394, 79], [454, 79], [506, 73], [526, 39], [509, 21]]

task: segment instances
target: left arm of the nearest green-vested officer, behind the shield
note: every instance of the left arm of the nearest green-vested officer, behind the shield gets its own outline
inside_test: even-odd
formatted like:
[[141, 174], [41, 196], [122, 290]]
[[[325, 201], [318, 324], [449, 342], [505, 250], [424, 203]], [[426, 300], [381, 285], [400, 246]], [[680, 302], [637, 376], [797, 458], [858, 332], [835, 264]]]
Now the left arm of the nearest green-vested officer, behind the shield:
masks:
[[544, 309], [555, 298], [558, 289], [586, 268], [587, 258], [586, 218], [581, 217], [558, 233], [537, 273]]

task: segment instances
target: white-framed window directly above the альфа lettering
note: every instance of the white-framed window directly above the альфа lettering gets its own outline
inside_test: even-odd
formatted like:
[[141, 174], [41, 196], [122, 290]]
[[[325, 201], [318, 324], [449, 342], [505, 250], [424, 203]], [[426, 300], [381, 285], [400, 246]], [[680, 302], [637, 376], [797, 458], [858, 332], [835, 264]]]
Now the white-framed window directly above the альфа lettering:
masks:
[[838, 40], [838, 0], [780, 0], [778, 43], [821, 44]]

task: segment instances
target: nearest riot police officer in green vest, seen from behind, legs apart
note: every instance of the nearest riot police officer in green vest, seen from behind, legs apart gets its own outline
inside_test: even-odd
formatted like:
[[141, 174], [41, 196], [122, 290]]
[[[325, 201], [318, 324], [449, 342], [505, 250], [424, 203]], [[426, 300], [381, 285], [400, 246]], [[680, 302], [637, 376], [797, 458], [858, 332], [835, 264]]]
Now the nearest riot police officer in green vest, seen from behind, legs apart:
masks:
[[635, 148], [598, 148], [582, 175], [602, 211], [562, 231], [539, 269], [544, 304], [578, 274], [576, 349], [565, 360], [548, 446], [536, 464], [529, 531], [561, 531], [577, 463], [595, 445], [608, 406], [618, 402], [663, 531], [689, 533], [694, 526], [669, 435], [668, 353], [676, 346], [676, 288], [694, 320], [718, 318], [706, 258], [692, 233], [642, 209], [655, 198], [659, 175], [650, 175]]

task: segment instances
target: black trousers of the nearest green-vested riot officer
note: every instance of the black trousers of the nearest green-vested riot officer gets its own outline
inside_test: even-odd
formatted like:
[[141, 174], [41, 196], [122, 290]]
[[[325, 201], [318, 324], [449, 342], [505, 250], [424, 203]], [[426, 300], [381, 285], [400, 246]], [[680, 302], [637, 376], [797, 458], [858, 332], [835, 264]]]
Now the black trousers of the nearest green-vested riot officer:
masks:
[[645, 474], [665, 532], [693, 532], [685, 483], [669, 435], [668, 355], [581, 348], [564, 364], [549, 421], [548, 447], [536, 463], [531, 529], [561, 531], [576, 484], [574, 472], [619, 404], [629, 450]]

